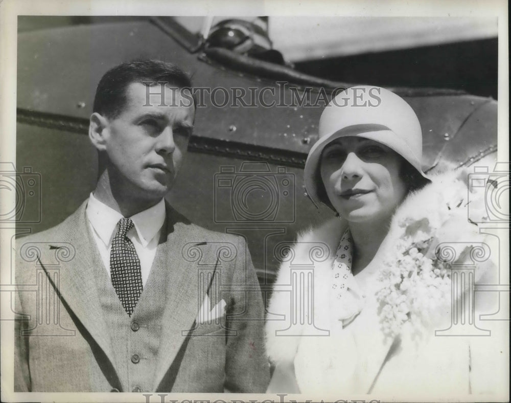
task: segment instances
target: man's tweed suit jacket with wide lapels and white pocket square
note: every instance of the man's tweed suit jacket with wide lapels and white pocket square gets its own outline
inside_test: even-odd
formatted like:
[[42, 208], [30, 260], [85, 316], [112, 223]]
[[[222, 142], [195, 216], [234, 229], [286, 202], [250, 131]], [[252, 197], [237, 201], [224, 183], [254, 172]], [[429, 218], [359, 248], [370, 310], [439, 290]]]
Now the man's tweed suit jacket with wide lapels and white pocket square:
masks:
[[[91, 270], [101, 259], [86, 205], [16, 242], [15, 391], [131, 392]], [[264, 392], [264, 307], [244, 239], [195, 226], [166, 204], [148, 283], [157, 270], [163, 280], [138, 303], [164, 301], [150, 391]], [[225, 315], [198, 320], [206, 299], [225, 301]]]

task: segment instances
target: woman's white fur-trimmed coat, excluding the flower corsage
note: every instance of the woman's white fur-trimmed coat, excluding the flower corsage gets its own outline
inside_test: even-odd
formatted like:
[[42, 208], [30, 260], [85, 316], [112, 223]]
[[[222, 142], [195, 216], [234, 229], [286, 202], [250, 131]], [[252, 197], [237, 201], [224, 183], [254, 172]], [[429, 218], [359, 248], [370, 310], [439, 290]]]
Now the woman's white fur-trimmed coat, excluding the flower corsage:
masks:
[[[423, 391], [422, 398], [428, 393], [445, 397], [493, 391], [500, 377], [494, 376], [495, 361], [485, 354], [495, 340], [490, 343], [489, 337], [434, 337], [435, 329], [450, 327], [450, 306], [440, 309], [436, 322], [424, 328], [419, 338], [411, 331], [410, 323], [403, 325], [399, 337], [386, 337], [381, 330], [381, 307], [376, 297], [383, 287], [378, 280], [381, 267], [389, 259], [397, 259], [396, 245], [410, 231], [412, 235], [420, 231], [433, 234], [433, 249], [442, 242], [454, 242], [455, 249], [456, 242], [463, 242], [460, 245], [489, 242], [479, 234], [478, 226], [467, 219], [469, 213], [477, 214], [478, 219], [484, 215], [483, 195], [468, 193], [467, 174], [464, 170], [437, 174], [431, 177], [431, 184], [405, 198], [373, 262], [355, 276], [354, 284], [347, 285], [363, 290], [362, 307], [353, 298], [343, 307], [332, 307], [329, 300], [332, 262], [347, 222], [336, 217], [298, 235], [288, 254], [290, 258], [284, 259], [278, 271], [268, 306], [266, 348], [276, 367], [270, 392], [321, 393], [321, 396], [329, 392], [370, 392], [396, 396], [399, 391], [401, 398], [417, 398], [417, 391]], [[412, 242], [413, 236], [407, 239]], [[305, 285], [304, 304], [293, 304], [296, 295], [290, 292], [292, 269], [310, 267], [314, 248], [316, 252], [317, 248], [327, 252], [313, 262], [313, 281]], [[463, 255], [462, 249], [454, 253]], [[460, 259], [470, 260], [468, 256]], [[488, 259], [476, 263], [476, 282], [495, 272], [490, 270], [492, 263]], [[307, 278], [306, 273], [304, 276], [302, 279]], [[307, 305], [308, 299], [311, 305]], [[476, 308], [488, 309], [487, 304], [476, 301]], [[343, 328], [332, 318], [337, 310], [346, 309], [354, 309], [358, 316]], [[477, 343], [479, 346], [474, 347]], [[294, 386], [285, 379], [295, 380]]]

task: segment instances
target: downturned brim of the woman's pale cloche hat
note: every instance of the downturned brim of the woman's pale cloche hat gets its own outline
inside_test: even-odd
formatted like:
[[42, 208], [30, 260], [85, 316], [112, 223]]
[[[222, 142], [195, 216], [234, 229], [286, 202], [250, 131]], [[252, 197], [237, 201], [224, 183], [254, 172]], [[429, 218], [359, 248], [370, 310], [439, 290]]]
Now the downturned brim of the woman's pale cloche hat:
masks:
[[[387, 126], [379, 124], [360, 124], [345, 127], [341, 130], [335, 131], [330, 135], [321, 137], [311, 148], [307, 155], [307, 161], [305, 162], [304, 169], [304, 184], [307, 190], [307, 194], [312, 199], [314, 204], [319, 205], [324, 203], [324, 200], [318, 195], [317, 191], [317, 172], [321, 160], [321, 153], [328, 144], [332, 141], [340, 139], [342, 137], [361, 137], [364, 139], [373, 140], [377, 143], [383, 144], [393, 151], [397, 152], [403, 159], [405, 159], [410, 165], [417, 170], [425, 179], [428, 181], [429, 178], [424, 173], [421, 162], [414, 155], [408, 144], [401, 141], [396, 133], [390, 130]], [[327, 206], [331, 207], [330, 204]]]

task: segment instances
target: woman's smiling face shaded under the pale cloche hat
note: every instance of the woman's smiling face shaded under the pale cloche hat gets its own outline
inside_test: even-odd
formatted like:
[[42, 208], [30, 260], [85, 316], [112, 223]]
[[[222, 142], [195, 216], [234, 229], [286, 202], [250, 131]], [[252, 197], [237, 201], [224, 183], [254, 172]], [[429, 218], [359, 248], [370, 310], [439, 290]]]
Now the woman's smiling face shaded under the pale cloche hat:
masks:
[[373, 140], [344, 137], [321, 154], [321, 179], [332, 206], [350, 222], [389, 218], [405, 197], [401, 157]]

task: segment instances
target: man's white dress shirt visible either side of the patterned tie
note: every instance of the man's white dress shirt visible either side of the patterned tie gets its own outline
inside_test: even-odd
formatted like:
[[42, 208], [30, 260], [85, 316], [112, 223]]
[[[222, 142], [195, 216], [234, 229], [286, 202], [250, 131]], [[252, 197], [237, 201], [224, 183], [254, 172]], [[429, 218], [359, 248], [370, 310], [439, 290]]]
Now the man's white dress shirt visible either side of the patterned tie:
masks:
[[[103, 264], [110, 276], [112, 240], [118, 230], [117, 224], [123, 215], [99, 201], [92, 193], [90, 193], [85, 214]], [[128, 238], [133, 242], [138, 259], [140, 259], [142, 284], [146, 285], [156, 255], [161, 227], [165, 222], [164, 199], [161, 199], [155, 206], [129, 218], [133, 221], [134, 226], [128, 231]]]

